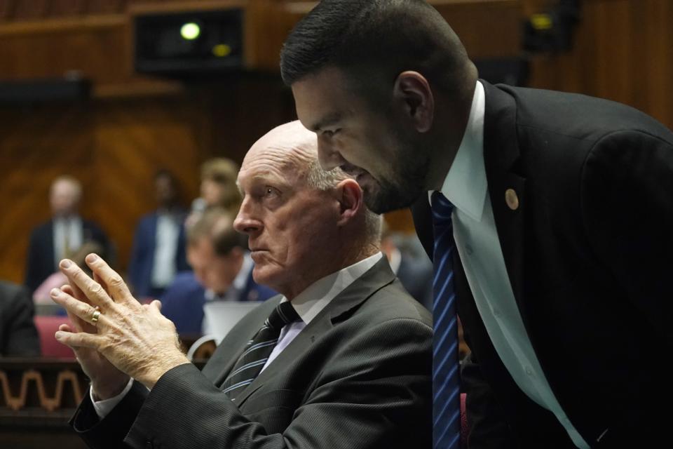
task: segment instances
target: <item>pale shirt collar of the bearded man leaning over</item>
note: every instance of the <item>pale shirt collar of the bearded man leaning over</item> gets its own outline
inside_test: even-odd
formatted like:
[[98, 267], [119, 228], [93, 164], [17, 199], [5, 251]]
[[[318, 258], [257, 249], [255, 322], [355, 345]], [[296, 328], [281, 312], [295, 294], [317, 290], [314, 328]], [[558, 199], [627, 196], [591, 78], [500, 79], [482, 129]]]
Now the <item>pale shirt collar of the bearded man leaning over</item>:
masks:
[[461, 212], [481, 221], [488, 182], [484, 168], [484, 86], [477, 81], [470, 118], [454, 162], [442, 185], [442, 194]]

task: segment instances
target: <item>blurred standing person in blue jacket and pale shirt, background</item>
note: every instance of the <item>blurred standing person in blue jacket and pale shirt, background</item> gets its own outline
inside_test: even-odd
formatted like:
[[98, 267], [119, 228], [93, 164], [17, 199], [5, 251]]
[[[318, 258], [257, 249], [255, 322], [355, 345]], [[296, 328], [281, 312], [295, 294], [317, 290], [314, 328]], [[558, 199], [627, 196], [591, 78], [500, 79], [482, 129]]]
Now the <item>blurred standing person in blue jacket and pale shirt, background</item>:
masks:
[[188, 270], [184, 250], [186, 210], [179, 206], [179, 187], [168, 170], [154, 176], [158, 209], [140, 219], [135, 229], [128, 276], [133, 293], [158, 298], [175, 279]]

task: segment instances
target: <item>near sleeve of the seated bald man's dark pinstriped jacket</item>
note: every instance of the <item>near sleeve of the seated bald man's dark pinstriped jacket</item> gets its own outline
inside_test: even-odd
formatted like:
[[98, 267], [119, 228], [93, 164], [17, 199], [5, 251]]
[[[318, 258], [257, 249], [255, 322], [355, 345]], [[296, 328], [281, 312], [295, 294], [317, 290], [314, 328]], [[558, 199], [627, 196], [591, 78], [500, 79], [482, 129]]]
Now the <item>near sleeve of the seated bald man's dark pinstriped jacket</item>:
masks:
[[[301, 404], [283, 434], [240, 413], [195, 366], [178, 366], [154, 386], [125, 442], [132, 448], [147, 442], [155, 448], [430, 448], [431, 335], [420, 321], [386, 321], [339, 347], [305, 396], [272, 391], [294, 394]], [[408, 427], [399, 425], [400, 417]]]

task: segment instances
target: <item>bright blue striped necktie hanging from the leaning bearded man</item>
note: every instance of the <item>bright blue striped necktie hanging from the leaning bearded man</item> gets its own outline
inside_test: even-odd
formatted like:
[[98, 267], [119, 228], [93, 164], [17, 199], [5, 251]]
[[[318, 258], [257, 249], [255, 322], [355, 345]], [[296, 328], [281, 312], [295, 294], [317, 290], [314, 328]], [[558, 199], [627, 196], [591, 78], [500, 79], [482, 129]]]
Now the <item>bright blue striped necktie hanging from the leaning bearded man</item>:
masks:
[[454, 205], [440, 192], [432, 195], [433, 255], [433, 448], [458, 448], [461, 401], [458, 373], [458, 323], [453, 257], [456, 250], [451, 212]]

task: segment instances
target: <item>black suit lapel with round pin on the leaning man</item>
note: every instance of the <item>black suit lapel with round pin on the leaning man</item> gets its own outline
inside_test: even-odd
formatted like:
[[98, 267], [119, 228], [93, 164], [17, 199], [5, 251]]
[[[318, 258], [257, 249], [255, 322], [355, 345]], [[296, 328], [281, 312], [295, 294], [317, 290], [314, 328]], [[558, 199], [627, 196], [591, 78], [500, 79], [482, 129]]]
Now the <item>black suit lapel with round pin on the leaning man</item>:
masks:
[[[505, 266], [524, 324], [524, 177], [515, 173], [519, 159], [515, 100], [481, 81], [486, 93], [484, 116], [484, 165], [491, 207], [503, 250]], [[509, 200], [508, 201], [508, 190]], [[518, 204], [512, 203], [514, 195]], [[516, 206], [516, 207], [515, 207]], [[527, 327], [527, 326], [526, 326]]]

